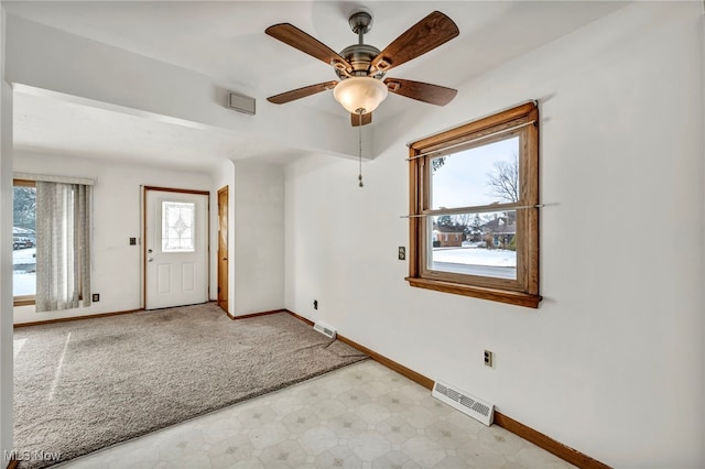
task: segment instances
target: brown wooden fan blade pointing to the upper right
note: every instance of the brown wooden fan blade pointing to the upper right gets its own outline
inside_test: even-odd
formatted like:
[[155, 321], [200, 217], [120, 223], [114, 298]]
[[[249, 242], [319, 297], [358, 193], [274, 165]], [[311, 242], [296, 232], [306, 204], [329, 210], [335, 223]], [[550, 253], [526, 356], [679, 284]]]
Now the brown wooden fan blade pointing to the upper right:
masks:
[[460, 31], [453, 20], [434, 11], [392, 41], [372, 59], [372, 66], [388, 70], [436, 48], [458, 34]]

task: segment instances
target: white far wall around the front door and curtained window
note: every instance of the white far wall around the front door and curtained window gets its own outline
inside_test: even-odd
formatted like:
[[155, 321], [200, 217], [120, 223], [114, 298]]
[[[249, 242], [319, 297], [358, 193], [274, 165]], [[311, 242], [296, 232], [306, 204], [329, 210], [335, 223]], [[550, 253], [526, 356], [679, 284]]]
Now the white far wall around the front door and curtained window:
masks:
[[[100, 294], [99, 303], [93, 303], [85, 308], [35, 313], [34, 306], [15, 307], [15, 324], [140, 308], [142, 299], [140, 252], [142, 248], [129, 244], [130, 238], [141, 238], [142, 236], [140, 186], [213, 190], [213, 179], [209, 174], [68, 156], [15, 152], [14, 171], [73, 175], [96, 179], [91, 288], [94, 293]], [[213, 208], [210, 215], [212, 226], [217, 226], [213, 225]], [[213, 255], [215, 254], [212, 250]], [[215, 292], [213, 275], [210, 291]]]

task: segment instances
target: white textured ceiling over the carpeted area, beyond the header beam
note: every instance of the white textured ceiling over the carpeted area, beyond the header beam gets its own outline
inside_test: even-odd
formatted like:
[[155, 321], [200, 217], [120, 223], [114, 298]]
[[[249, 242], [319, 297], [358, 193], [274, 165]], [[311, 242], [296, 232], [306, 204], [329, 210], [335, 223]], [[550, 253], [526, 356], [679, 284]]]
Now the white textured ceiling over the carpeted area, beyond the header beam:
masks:
[[188, 127], [34, 94], [15, 92], [17, 150], [204, 171], [223, 159], [285, 164], [303, 152], [246, 140], [213, 127]]

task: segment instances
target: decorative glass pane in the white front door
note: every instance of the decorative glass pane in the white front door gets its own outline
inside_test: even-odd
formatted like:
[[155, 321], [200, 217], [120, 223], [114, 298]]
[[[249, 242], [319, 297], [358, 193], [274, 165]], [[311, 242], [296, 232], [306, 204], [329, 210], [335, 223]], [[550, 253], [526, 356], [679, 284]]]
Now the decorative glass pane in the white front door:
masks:
[[194, 252], [196, 204], [162, 201], [162, 252]]

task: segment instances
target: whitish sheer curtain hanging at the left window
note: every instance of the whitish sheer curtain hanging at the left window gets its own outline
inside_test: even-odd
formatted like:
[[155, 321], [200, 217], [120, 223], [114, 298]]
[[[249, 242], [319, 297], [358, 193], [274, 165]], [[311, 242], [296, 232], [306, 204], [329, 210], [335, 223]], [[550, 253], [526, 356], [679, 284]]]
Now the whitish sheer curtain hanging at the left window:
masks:
[[36, 310], [90, 305], [93, 186], [36, 182]]

